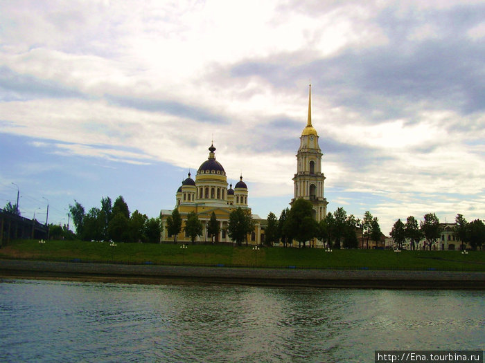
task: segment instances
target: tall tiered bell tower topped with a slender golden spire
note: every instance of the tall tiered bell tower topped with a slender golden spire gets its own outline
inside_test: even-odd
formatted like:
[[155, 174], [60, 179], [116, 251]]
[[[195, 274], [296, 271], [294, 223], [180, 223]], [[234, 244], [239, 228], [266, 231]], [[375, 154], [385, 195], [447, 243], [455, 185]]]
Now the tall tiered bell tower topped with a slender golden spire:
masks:
[[300, 147], [297, 153], [297, 174], [294, 174], [294, 197], [310, 201], [313, 205], [313, 218], [321, 221], [327, 214], [328, 202], [324, 198], [325, 176], [321, 171], [321, 149], [318, 133], [312, 126], [312, 86], [308, 91], [308, 120], [301, 132]]

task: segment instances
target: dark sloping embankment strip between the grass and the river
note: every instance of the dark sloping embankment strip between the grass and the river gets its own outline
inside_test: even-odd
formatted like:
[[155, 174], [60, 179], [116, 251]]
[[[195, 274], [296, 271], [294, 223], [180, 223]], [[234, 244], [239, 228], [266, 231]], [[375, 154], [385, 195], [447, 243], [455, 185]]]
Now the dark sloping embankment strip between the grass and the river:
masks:
[[144, 284], [222, 283], [319, 288], [485, 290], [485, 272], [227, 268], [10, 259], [0, 259], [0, 278]]

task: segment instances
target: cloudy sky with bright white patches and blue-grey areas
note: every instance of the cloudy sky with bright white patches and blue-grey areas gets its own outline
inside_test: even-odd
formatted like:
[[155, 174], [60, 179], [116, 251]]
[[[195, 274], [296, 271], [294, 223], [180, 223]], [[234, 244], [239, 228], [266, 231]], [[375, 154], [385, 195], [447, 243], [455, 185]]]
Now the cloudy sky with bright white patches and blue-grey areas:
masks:
[[289, 207], [312, 124], [328, 212], [389, 235], [485, 218], [484, 1], [0, 0], [0, 205], [149, 217], [209, 155], [254, 214]]

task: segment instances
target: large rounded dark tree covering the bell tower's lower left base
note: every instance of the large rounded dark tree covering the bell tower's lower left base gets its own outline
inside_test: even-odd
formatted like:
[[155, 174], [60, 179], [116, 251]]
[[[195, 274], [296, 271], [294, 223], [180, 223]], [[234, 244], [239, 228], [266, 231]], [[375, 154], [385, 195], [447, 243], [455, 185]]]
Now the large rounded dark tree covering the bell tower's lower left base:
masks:
[[315, 238], [318, 233], [318, 224], [312, 215], [312, 203], [299, 198], [293, 202], [285, 222], [286, 230], [291, 230], [293, 238], [298, 241], [300, 247], [303, 243], [303, 248], [305, 248], [306, 241]]

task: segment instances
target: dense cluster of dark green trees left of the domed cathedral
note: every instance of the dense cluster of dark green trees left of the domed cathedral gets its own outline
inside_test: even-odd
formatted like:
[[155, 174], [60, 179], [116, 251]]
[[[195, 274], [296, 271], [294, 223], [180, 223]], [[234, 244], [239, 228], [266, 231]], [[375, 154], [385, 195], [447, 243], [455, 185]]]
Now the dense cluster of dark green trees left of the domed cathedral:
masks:
[[115, 241], [159, 243], [162, 225], [160, 218], [148, 218], [130, 209], [123, 196], [114, 203], [111, 198], [101, 198], [100, 207], [92, 207], [88, 212], [74, 201], [69, 212], [76, 226], [76, 234], [83, 241]]

